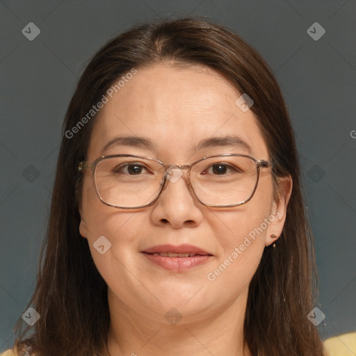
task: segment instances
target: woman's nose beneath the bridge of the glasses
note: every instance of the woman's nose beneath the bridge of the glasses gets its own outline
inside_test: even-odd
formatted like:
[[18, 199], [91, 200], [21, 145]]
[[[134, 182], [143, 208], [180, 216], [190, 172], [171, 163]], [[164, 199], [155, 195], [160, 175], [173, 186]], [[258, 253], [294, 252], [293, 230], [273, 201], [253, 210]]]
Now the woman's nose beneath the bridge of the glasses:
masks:
[[202, 205], [188, 186], [185, 170], [171, 166], [166, 171], [165, 185], [152, 209], [155, 225], [196, 227], [202, 223]]

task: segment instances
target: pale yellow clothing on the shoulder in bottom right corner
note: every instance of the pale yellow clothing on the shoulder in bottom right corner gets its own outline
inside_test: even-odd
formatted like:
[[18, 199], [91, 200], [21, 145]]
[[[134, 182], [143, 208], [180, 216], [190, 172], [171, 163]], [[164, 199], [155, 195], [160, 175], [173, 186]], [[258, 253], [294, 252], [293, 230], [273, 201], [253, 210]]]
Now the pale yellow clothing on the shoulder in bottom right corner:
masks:
[[356, 332], [338, 335], [324, 341], [326, 356], [355, 356]]

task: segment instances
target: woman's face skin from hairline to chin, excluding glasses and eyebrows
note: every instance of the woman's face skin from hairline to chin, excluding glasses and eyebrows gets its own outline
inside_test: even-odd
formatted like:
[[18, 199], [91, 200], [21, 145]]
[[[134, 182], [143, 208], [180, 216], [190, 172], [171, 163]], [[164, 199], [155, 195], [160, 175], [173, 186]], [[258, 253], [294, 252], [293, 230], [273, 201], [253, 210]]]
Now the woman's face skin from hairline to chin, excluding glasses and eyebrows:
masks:
[[[251, 154], [268, 160], [252, 111], [242, 111], [235, 103], [239, 96], [206, 67], [138, 68], [132, 79], [113, 91], [112, 98], [106, 95], [108, 102], [92, 131], [87, 160], [103, 154], [150, 156], [175, 165], [216, 154]], [[232, 135], [248, 143], [251, 152], [238, 145], [195, 149], [202, 140]], [[111, 145], [102, 152], [109, 141], [124, 136], [146, 138], [152, 147]], [[243, 305], [264, 248], [275, 241], [270, 235], [282, 232], [286, 204], [273, 201], [270, 168], [261, 169], [252, 200], [223, 209], [206, 207], [191, 195], [186, 175], [166, 181], [150, 207], [115, 209], [99, 200], [90, 170], [83, 174], [80, 232], [108, 284], [110, 300], [162, 323], [170, 322], [164, 316], [175, 313], [184, 316], [182, 323], [220, 313], [238, 300]], [[287, 202], [290, 181], [284, 186]], [[99, 240], [104, 253], [93, 245], [100, 236], [104, 236]], [[209, 256], [202, 258], [202, 264], [181, 268], [194, 257], [153, 257], [144, 252], [159, 250], [154, 248], [159, 245], [171, 245], [174, 252], [184, 244]], [[186, 262], [179, 264], [179, 258]], [[157, 264], [159, 259], [172, 263]]]

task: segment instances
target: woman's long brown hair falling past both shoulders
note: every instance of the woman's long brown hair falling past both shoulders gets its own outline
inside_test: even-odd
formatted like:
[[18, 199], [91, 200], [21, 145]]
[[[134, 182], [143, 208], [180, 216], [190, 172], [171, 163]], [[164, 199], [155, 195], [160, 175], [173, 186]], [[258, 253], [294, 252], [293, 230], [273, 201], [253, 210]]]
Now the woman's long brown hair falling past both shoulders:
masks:
[[[29, 306], [40, 319], [15, 346], [32, 355], [87, 356], [106, 350], [110, 315], [107, 286], [79, 234], [81, 175], [95, 118], [70, 131], [106, 90], [132, 68], [154, 63], [207, 65], [254, 100], [250, 108], [264, 137], [273, 183], [291, 175], [293, 191], [276, 248], [265, 248], [250, 282], [244, 333], [252, 355], [323, 355], [318, 330], [307, 319], [316, 298], [314, 241], [303, 205], [300, 165], [282, 92], [263, 58], [238, 35], [206, 19], [188, 17], [143, 24], [109, 41], [81, 75], [65, 115], [47, 237]], [[31, 332], [29, 335], [25, 335]]]

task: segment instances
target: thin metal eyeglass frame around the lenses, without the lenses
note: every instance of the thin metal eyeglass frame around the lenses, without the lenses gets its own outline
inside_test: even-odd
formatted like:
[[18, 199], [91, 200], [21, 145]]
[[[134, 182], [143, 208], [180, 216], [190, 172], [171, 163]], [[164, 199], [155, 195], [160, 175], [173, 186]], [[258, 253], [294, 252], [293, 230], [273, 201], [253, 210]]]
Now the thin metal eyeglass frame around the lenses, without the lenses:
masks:
[[[257, 170], [256, 184], [254, 184], [254, 188], [253, 188], [252, 193], [250, 194], [250, 197], [248, 197], [248, 199], [246, 199], [246, 200], [243, 200], [243, 202], [238, 202], [236, 204], [228, 204], [228, 205], [214, 205], [214, 204], [204, 203], [199, 199], [199, 197], [197, 197], [197, 195], [193, 189], [193, 186], [191, 185], [191, 168], [193, 167], [193, 165], [195, 165], [201, 161], [204, 161], [204, 159], [211, 159], [214, 157], [224, 157], [224, 156], [242, 156], [242, 157], [248, 157], [249, 159], [252, 159], [252, 161], [254, 161], [254, 163], [256, 163], [256, 170]], [[163, 168], [165, 170], [164, 174], [163, 174], [163, 181], [160, 181], [160, 183], [159, 183], [161, 185], [161, 190], [159, 191], [159, 194], [156, 196], [156, 198], [154, 198], [154, 200], [152, 200], [152, 202], [150, 202], [149, 204], [141, 205], [139, 207], [120, 207], [118, 205], [107, 203], [102, 199], [102, 197], [99, 194], [98, 188], [97, 188], [97, 181], [95, 179], [95, 172], [97, 170], [97, 164], [99, 162], [103, 161], [104, 159], [109, 159], [109, 158], [114, 158], [114, 157], [135, 157], [138, 159], [148, 159], [151, 161], [155, 161], [163, 166]], [[79, 170], [79, 172], [83, 172], [83, 170], [86, 170], [86, 169], [90, 169], [92, 171], [92, 179], [95, 184], [95, 191], [97, 192], [97, 196], [99, 197], [99, 200], [101, 200], [104, 204], [108, 205], [108, 207], [114, 207], [116, 209], [141, 209], [141, 208], [145, 208], [145, 207], [150, 207], [159, 199], [159, 196], [161, 195], [163, 188], [165, 186], [165, 181], [167, 180], [168, 174], [166, 174], [166, 173], [171, 167], [179, 168], [179, 170], [182, 170], [182, 171], [184, 171], [184, 170], [188, 171], [188, 182], [186, 182], [186, 186], [188, 186], [188, 190], [193, 191], [194, 196], [205, 207], [227, 208], [227, 207], [238, 207], [240, 205], [243, 205], [243, 204], [249, 202], [252, 199], [254, 192], [257, 189], [257, 185], [259, 183], [259, 169], [260, 168], [270, 168], [270, 167], [272, 167], [272, 164], [265, 159], [256, 159], [254, 156], [250, 156], [249, 154], [217, 154], [216, 156], [203, 157], [202, 159], [198, 159], [197, 161], [195, 161], [191, 164], [184, 164], [184, 165], [165, 164], [162, 161], [160, 161], [159, 159], [154, 159], [154, 158], [148, 157], [148, 156], [138, 156], [136, 154], [109, 154], [108, 156], [98, 157], [97, 159], [95, 159], [95, 161], [92, 161], [92, 163], [89, 163], [89, 161], [81, 161], [79, 163], [78, 170]]]

